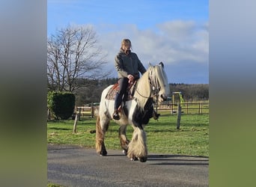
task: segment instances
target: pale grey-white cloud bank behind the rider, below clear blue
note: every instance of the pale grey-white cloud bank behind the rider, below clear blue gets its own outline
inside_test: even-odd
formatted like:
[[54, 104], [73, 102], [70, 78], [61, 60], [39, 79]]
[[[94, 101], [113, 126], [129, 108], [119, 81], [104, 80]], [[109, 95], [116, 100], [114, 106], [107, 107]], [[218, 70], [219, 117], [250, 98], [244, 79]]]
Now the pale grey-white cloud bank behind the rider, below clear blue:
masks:
[[[156, 25], [155, 28], [144, 30], [140, 30], [132, 24], [100, 25], [96, 26], [96, 31], [103, 52], [108, 54], [106, 60], [109, 62], [110, 69], [115, 70], [114, 58], [120, 49], [121, 40], [129, 38], [132, 41], [133, 52], [137, 53], [145, 67], [148, 62], [156, 64], [163, 61], [168, 64], [168, 67], [182, 68], [184, 75], [180, 76], [185, 76], [186, 67], [189, 64], [189, 67], [195, 67], [193, 68], [194, 72], [189, 73], [189, 76], [193, 74], [195, 77], [199, 74], [208, 75], [208, 23], [200, 25], [192, 21], [178, 20], [163, 22]], [[183, 63], [184, 61], [186, 61], [186, 65]], [[174, 66], [174, 64], [176, 65]], [[200, 70], [200, 73], [196, 72], [197, 69]], [[208, 81], [208, 77], [202, 79], [204, 79], [202, 80], [204, 83]]]

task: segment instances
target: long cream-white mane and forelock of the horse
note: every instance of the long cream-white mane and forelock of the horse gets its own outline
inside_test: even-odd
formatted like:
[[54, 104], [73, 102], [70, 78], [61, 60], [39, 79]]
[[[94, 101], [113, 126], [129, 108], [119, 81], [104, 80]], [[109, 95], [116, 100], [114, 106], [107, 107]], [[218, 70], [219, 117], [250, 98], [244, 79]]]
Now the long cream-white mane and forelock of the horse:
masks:
[[147, 100], [150, 98], [152, 92], [150, 82], [156, 88], [165, 88], [167, 76], [161, 66], [150, 66], [141, 78], [138, 79], [134, 96], [137, 98], [140, 108], [144, 108], [144, 105], [146, 105]]

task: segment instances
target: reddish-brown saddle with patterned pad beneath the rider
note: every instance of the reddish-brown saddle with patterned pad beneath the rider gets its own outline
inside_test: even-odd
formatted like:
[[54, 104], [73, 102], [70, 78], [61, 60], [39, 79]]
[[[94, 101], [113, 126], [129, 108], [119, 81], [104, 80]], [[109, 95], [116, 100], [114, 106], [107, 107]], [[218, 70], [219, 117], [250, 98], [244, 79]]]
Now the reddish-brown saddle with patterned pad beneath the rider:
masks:
[[[135, 82], [129, 83], [127, 87], [127, 93], [124, 94], [123, 102], [129, 101], [133, 99], [133, 94], [135, 91], [135, 85], [137, 84], [137, 80]], [[118, 82], [109, 89], [109, 92], [106, 94], [106, 99], [115, 100], [115, 95], [118, 93], [119, 84]]]

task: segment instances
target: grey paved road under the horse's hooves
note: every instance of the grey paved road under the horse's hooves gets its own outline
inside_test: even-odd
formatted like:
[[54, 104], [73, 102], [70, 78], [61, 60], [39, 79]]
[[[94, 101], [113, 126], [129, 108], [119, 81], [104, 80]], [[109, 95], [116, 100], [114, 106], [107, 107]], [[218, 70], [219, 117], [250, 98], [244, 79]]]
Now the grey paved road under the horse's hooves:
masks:
[[121, 150], [48, 145], [48, 181], [63, 186], [208, 186], [209, 159], [150, 153], [130, 161]]

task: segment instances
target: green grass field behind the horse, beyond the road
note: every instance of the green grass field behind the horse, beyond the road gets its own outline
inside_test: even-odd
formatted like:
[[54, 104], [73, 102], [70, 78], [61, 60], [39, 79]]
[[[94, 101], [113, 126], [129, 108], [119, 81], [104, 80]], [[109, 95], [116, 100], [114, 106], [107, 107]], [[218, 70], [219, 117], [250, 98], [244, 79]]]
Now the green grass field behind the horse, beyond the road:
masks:
[[[95, 118], [83, 117], [73, 133], [73, 120], [47, 123], [47, 140], [50, 144], [76, 144], [94, 148]], [[209, 114], [182, 114], [180, 129], [177, 115], [162, 112], [159, 120], [151, 119], [145, 127], [149, 153], [168, 153], [189, 156], [209, 156]], [[106, 133], [106, 149], [121, 150], [118, 138], [119, 125], [111, 121]], [[132, 126], [127, 126], [127, 138], [132, 138]]]

